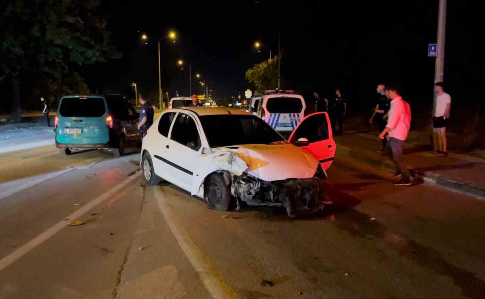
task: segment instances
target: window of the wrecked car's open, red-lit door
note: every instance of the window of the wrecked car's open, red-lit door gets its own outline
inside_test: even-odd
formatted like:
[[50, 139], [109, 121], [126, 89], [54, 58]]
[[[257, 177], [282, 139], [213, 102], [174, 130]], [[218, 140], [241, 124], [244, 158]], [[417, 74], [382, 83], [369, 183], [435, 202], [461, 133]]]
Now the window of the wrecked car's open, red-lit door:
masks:
[[327, 140], [329, 136], [326, 115], [317, 114], [303, 120], [291, 137], [290, 143], [295, 143], [299, 138], [307, 138], [309, 143]]

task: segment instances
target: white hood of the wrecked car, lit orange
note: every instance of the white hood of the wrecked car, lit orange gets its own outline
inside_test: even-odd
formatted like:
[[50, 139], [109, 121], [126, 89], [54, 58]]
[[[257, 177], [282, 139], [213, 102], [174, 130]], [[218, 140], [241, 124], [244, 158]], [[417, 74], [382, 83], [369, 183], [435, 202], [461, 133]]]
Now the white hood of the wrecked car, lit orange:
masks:
[[247, 163], [249, 167], [245, 172], [264, 181], [311, 178], [318, 167], [315, 157], [292, 144], [254, 144], [238, 147], [230, 151]]

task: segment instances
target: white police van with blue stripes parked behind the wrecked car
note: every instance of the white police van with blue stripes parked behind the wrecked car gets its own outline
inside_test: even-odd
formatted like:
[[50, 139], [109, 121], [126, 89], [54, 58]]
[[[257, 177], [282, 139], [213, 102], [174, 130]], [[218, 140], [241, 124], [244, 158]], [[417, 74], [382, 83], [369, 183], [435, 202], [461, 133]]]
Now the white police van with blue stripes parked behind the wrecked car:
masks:
[[292, 90], [267, 90], [259, 100], [256, 116], [288, 138], [303, 119], [306, 108], [303, 96]]

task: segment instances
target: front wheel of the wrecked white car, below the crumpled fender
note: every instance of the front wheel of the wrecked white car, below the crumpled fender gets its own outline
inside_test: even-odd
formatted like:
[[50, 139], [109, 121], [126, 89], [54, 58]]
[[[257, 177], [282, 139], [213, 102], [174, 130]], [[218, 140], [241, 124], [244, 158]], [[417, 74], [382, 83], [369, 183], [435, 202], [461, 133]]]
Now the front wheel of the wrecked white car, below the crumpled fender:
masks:
[[226, 185], [222, 174], [213, 173], [207, 178], [204, 193], [211, 208], [219, 211], [229, 209], [231, 188], [230, 185]]

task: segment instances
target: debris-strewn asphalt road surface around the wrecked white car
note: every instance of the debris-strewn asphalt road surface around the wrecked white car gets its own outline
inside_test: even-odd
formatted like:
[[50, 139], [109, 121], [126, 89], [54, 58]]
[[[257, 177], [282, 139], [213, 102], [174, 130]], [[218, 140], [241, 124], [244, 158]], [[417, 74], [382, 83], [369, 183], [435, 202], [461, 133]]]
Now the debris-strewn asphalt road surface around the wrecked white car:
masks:
[[0, 298], [485, 297], [480, 199], [337, 156], [319, 214], [220, 212], [138, 161], [1, 153]]

